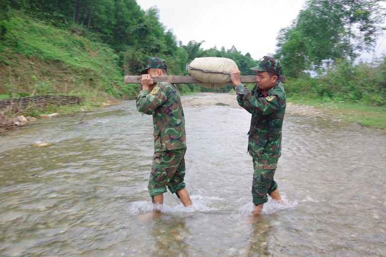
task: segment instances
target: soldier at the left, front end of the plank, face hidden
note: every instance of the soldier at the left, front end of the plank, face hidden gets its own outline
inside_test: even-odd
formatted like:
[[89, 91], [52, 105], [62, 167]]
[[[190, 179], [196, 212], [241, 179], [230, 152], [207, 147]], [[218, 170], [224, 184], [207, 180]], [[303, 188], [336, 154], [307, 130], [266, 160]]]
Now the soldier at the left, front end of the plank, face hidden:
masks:
[[[181, 97], [174, 84], [154, 83], [151, 76], [166, 76], [165, 60], [151, 57], [141, 71], [142, 91], [138, 94], [137, 110], [153, 115], [154, 156], [149, 178], [149, 193], [156, 204], [163, 203], [168, 187], [185, 206], [192, 204], [185, 189], [185, 118]], [[150, 93], [149, 93], [150, 92]]]

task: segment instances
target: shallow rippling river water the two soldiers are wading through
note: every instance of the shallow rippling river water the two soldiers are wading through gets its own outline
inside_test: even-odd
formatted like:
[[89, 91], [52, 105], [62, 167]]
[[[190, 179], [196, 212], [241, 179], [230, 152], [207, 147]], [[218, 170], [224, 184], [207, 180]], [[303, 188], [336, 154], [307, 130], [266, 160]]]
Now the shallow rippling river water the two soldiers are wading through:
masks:
[[275, 174], [287, 205], [252, 217], [250, 115], [184, 112], [193, 206], [165, 193], [161, 215], [152, 117], [134, 100], [2, 135], [0, 256], [386, 256], [385, 131], [287, 114]]

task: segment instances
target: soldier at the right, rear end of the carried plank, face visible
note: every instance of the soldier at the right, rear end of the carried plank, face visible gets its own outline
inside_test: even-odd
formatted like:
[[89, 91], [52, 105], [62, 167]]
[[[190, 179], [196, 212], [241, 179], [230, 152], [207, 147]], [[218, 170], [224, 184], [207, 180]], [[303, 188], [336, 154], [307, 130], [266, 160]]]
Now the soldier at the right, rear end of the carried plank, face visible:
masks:
[[282, 126], [286, 111], [286, 93], [278, 81], [282, 73], [279, 61], [264, 56], [251, 68], [256, 70], [257, 84], [252, 90], [240, 83], [240, 71], [232, 69], [231, 78], [238, 104], [252, 114], [248, 132], [248, 152], [253, 159], [252, 197], [254, 214], [260, 214], [268, 201], [267, 194], [281, 201], [277, 184], [273, 179], [281, 155]]

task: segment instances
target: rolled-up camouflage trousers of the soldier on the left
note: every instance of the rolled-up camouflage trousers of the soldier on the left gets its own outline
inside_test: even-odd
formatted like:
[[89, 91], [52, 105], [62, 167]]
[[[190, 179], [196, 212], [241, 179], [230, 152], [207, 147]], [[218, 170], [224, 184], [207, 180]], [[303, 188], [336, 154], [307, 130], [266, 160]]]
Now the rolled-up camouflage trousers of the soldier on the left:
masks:
[[185, 188], [185, 152], [186, 148], [154, 153], [148, 186], [151, 197], [165, 193], [166, 187], [170, 193]]

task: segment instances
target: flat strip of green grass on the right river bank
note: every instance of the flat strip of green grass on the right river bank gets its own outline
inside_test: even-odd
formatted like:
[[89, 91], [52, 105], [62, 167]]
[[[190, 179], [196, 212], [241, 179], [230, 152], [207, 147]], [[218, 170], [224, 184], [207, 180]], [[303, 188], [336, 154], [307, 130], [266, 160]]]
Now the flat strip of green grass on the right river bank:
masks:
[[369, 106], [362, 103], [324, 102], [321, 99], [288, 98], [288, 102], [314, 106], [321, 112], [343, 121], [363, 126], [386, 129], [386, 106]]

